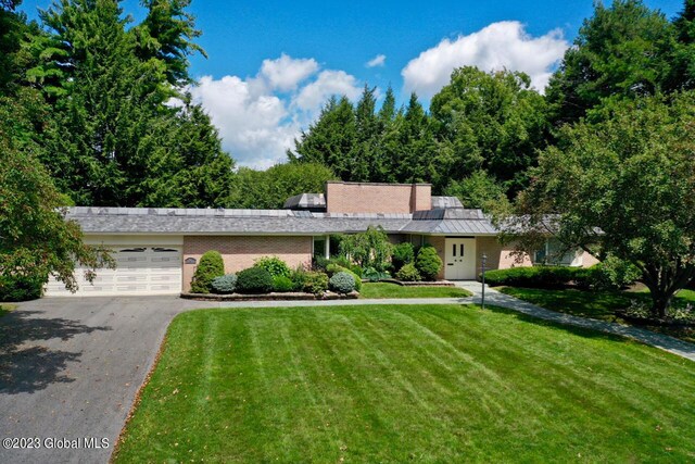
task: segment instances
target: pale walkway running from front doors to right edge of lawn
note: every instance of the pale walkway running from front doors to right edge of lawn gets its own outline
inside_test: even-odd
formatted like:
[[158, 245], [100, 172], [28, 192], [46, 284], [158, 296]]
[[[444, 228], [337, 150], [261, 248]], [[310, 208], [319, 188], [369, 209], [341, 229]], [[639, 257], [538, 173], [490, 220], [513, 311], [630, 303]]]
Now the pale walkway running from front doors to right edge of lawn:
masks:
[[[457, 281], [457, 287], [465, 288], [473, 293], [472, 301], [480, 304], [482, 297], [482, 286], [477, 281]], [[521, 301], [508, 294], [501, 293], [485, 286], [485, 304], [506, 308], [518, 311], [533, 317], [545, 321], [552, 321], [559, 324], [568, 324], [578, 327], [599, 330], [606, 334], [620, 335], [634, 340], [650, 344], [679, 356], [695, 361], [695, 344], [679, 340], [668, 335], [657, 334], [639, 327], [627, 326], [618, 323], [609, 323], [606, 321], [590, 319], [585, 317], [573, 316], [571, 314], [558, 313], [549, 311], [535, 304]]]

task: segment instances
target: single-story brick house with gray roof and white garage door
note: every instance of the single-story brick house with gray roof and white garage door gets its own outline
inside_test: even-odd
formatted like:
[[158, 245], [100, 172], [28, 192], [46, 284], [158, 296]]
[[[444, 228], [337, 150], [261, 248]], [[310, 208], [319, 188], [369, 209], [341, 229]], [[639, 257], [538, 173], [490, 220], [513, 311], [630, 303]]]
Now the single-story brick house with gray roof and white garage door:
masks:
[[[393, 242], [431, 243], [444, 262], [441, 278], [473, 279], [480, 256], [489, 268], [516, 263], [510, 248], [480, 210], [465, 209], [454, 197], [433, 197], [429, 184], [329, 181], [326, 192], [288, 199], [282, 210], [71, 208], [67, 220], [83, 228], [87, 243], [113, 250], [117, 268], [100, 269], [93, 284], [81, 279], [78, 294], [169, 294], [187, 291], [201, 255], [222, 253], [227, 272], [277, 255], [291, 267], [330, 253], [331, 234], [381, 226]], [[591, 265], [576, 253], [571, 265]], [[80, 273], [81, 276], [81, 273]], [[51, 278], [48, 296], [70, 296]]]

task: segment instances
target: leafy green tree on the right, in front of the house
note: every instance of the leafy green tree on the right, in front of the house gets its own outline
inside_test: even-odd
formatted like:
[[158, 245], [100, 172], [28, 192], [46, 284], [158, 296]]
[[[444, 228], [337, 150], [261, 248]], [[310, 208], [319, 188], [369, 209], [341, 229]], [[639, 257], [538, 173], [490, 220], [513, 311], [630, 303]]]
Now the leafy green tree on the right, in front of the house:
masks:
[[640, 268], [662, 316], [695, 276], [693, 121], [695, 93], [684, 92], [623, 103], [597, 126], [565, 127], [519, 198], [514, 228], [522, 247], [553, 217], [563, 243]]

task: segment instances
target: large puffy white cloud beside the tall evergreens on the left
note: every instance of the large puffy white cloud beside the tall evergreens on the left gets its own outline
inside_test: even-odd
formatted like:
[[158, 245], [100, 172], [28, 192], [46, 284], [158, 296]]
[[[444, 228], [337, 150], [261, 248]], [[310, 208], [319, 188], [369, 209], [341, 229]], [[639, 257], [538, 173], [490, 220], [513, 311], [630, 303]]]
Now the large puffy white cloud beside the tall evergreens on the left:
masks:
[[[265, 60], [258, 73], [242, 79], [204, 76], [190, 89], [219, 130], [223, 148], [239, 165], [266, 168], [286, 160], [293, 140], [332, 95], [359, 95], [357, 79], [325, 70], [313, 59], [282, 54]], [[289, 92], [289, 93], [288, 93]]]

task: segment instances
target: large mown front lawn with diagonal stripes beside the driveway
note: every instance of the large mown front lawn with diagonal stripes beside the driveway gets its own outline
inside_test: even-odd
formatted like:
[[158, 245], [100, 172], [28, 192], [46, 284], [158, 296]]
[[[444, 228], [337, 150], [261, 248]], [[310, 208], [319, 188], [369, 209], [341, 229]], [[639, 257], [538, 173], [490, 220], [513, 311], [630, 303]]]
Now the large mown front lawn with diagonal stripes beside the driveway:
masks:
[[695, 459], [695, 363], [472, 305], [205, 310], [116, 462]]

